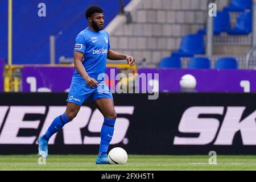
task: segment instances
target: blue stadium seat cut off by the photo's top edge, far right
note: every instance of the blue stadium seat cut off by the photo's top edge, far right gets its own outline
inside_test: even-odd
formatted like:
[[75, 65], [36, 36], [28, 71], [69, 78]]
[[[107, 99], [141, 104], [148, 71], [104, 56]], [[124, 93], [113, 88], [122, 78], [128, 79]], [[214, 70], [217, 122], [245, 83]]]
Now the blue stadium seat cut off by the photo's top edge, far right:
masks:
[[251, 9], [251, 0], [232, 0], [230, 5], [224, 8], [224, 11], [244, 11], [245, 9]]

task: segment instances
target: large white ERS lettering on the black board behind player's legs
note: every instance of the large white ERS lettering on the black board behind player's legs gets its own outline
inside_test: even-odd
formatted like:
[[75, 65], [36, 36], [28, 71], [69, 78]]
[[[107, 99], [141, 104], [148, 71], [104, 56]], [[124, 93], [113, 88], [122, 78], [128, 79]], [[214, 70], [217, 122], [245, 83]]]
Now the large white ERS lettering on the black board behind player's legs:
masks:
[[[46, 133], [57, 115], [63, 114], [66, 106], [0, 106], [0, 144], [36, 144], [36, 139]], [[133, 115], [134, 106], [115, 106], [117, 114]], [[38, 115], [33, 121], [24, 120], [25, 115]], [[43, 126], [40, 123], [43, 122]], [[79, 113], [72, 122], [62, 129], [64, 144], [100, 144], [101, 126], [104, 117], [99, 110], [81, 106]], [[115, 131], [110, 144], [125, 143], [130, 121], [125, 117], [117, 117]], [[2, 126], [2, 128], [1, 128]], [[82, 134], [81, 129], [87, 128], [89, 133]], [[34, 135], [20, 136], [20, 130], [39, 130]], [[97, 134], [97, 135], [95, 135]], [[55, 144], [56, 134], [49, 139], [49, 144]], [[126, 143], [127, 144], [127, 143]]]

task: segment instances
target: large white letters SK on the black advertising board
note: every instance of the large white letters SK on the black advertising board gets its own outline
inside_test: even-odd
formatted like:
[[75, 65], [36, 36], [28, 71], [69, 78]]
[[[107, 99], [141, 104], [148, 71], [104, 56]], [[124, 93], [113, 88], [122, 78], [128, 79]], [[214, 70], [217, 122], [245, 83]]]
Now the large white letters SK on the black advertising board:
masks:
[[[184, 111], [178, 130], [182, 136], [175, 136], [174, 145], [231, 146], [235, 135], [240, 132], [243, 145], [256, 145], [256, 110], [244, 115], [244, 106], [194, 106]], [[221, 122], [218, 118], [224, 118]], [[185, 134], [189, 137], [185, 137]], [[191, 137], [197, 134], [198, 137]]]

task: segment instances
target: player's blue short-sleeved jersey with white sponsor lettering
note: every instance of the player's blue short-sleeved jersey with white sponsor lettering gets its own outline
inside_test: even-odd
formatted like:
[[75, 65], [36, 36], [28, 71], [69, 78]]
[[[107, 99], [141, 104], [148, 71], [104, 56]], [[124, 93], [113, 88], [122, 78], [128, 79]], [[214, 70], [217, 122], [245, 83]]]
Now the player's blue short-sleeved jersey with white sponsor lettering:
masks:
[[[104, 81], [106, 72], [106, 60], [110, 49], [108, 32], [92, 31], [89, 28], [81, 31], [76, 37], [75, 52], [84, 53], [82, 65], [88, 75], [98, 82]], [[100, 76], [99, 76], [100, 75]], [[75, 70], [72, 81], [85, 83], [84, 78]]]

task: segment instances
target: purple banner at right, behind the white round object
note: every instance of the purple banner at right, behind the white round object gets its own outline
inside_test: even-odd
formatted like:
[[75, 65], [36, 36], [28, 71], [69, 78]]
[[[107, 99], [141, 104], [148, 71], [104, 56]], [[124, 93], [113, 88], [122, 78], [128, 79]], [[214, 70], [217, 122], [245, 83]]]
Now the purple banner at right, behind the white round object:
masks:
[[187, 74], [196, 78], [197, 92], [256, 92], [254, 70], [143, 68], [138, 73], [159, 73], [159, 92], [180, 92], [180, 79]]

